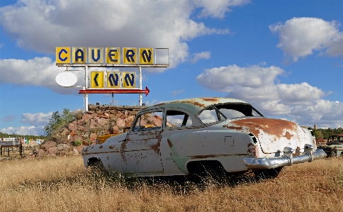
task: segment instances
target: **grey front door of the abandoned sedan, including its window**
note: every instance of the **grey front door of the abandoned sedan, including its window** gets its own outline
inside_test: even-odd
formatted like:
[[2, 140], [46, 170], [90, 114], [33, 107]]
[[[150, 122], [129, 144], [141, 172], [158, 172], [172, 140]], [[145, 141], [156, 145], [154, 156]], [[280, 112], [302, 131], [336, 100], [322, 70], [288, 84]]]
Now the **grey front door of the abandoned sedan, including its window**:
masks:
[[126, 177], [161, 175], [160, 142], [163, 109], [145, 111], [137, 115], [133, 128], [122, 144]]

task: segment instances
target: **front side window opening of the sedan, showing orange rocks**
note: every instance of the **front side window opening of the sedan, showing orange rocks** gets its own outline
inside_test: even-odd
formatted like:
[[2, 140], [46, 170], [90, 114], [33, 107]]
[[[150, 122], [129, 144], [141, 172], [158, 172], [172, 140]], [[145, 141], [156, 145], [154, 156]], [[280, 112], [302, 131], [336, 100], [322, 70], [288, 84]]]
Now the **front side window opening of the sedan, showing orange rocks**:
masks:
[[162, 111], [140, 114], [135, 122], [133, 131], [147, 131], [162, 129]]

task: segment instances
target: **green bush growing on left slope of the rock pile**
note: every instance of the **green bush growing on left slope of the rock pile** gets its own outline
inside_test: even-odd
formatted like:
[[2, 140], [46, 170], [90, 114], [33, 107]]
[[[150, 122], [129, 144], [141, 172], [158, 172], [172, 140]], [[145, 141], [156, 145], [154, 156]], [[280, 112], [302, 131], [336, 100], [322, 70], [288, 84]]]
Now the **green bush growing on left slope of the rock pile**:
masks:
[[59, 111], [52, 113], [49, 123], [47, 123], [47, 125], [44, 127], [45, 135], [53, 135], [56, 130], [59, 130], [60, 128], [64, 127], [64, 125], [72, 122], [74, 118], [75, 117], [73, 113], [69, 111], [69, 108], [64, 108], [62, 110], [62, 115]]

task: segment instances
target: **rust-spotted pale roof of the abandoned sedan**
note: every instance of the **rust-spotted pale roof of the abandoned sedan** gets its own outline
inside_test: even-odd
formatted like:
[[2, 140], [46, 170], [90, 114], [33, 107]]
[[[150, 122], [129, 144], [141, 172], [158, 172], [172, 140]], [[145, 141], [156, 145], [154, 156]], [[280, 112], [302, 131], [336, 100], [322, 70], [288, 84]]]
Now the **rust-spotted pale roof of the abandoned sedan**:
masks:
[[232, 99], [232, 98], [221, 98], [221, 97], [203, 97], [203, 98], [191, 98], [191, 99], [179, 99], [174, 101], [164, 101], [154, 106], [149, 106], [144, 111], [155, 109], [155, 108], [184, 108], [191, 111], [193, 114], [198, 114], [203, 108], [206, 108], [213, 104], [225, 104], [225, 103], [242, 103], [247, 102]]

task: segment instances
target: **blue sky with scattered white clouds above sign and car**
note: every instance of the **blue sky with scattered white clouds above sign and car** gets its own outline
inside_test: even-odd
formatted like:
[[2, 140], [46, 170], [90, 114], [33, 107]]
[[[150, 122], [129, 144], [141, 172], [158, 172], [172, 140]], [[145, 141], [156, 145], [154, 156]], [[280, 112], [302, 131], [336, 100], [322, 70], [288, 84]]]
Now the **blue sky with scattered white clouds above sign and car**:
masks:
[[[59, 46], [169, 48], [169, 68], [142, 69], [147, 105], [232, 97], [264, 116], [342, 127], [342, 9], [343, 1], [1, 0], [0, 131], [42, 135], [52, 112], [84, 108], [79, 88], [55, 82], [65, 70], [55, 64]], [[138, 100], [114, 95], [120, 106]], [[112, 96], [90, 94], [96, 102]]]

